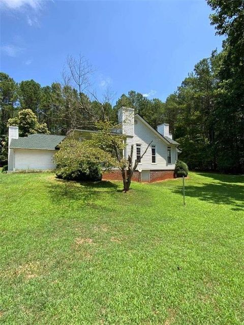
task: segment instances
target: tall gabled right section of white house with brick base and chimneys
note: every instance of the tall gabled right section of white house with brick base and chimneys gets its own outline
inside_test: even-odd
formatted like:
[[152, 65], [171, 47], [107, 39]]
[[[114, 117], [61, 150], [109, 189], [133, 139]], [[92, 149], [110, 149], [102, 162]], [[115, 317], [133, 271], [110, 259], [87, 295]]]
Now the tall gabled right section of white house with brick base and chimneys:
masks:
[[[131, 146], [134, 145], [133, 161], [140, 159], [152, 141], [132, 179], [139, 182], [155, 182], [174, 178], [179, 144], [172, 139], [169, 124], [158, 125], [155, 130], [139, 114], [134, 114], [132, 108], [120, 108], [118, 121], [122, 133], [127, 138], [124, 156], [128, 157]], [[103, 179], [121, 179], [121, 175], [118, 170], [111, 170], [103, 174]]]

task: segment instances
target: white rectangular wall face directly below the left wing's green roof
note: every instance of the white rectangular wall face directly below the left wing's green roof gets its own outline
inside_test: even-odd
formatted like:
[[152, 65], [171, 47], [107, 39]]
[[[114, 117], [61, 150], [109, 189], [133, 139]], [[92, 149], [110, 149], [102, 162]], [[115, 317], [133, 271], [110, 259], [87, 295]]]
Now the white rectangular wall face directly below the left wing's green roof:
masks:
[[53, 155], [56, 150], [14, 150], [14, 170], [50, 170], [54, 169]]

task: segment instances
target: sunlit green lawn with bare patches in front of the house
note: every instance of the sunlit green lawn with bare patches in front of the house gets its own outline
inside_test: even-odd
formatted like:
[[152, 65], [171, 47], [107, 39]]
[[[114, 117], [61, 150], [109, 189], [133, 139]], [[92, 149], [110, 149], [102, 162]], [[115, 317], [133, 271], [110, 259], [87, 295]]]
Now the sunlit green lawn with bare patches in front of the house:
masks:
[[242, 176], [0, 175], [0, 323], [243, 324]]

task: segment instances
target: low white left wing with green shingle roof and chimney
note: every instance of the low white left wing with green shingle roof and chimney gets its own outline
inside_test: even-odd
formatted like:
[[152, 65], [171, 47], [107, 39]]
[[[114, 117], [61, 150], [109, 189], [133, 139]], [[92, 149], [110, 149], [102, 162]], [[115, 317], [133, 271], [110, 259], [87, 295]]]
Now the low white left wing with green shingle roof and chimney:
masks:
[[52, 170], [55, 168], [53, 155], [65, 136], [33, 134], [18, 137], [18, 128], [9, 127], [8, 171]]

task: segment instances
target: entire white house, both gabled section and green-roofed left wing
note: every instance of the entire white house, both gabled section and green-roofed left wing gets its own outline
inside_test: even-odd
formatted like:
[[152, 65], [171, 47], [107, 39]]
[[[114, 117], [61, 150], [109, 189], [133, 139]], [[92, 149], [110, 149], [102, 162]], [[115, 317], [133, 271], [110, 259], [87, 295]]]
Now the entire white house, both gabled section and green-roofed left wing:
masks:
[[[154, 182], [174, 177], [175, 162], [179, 145], [169, 134], [169, 125], [158, 125], [157, 130], [151, 127], [139, 114], [134, 114], [132, 108], [121, 108], [118, 111], [120, 127], [114, 133], [126, 136], [124, 156], [131, 153], [134, 145], [133, 160], [140, 159], [133, 180]], [[75, 130], [80, 140], [89, 138], [94, 131]], [[18, 170], [50, 170], [54, 169], [53, 155], [65, 136], [34, 134], [21, 138], [18, 127], [9, 127], [9, 161], [8, 171]], [[121, 179], [118, 169], [112, 169], [103, 174], [103, 179]]]

